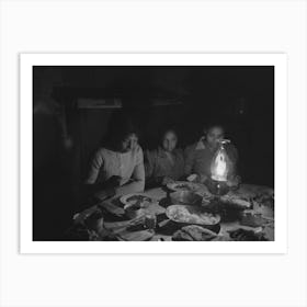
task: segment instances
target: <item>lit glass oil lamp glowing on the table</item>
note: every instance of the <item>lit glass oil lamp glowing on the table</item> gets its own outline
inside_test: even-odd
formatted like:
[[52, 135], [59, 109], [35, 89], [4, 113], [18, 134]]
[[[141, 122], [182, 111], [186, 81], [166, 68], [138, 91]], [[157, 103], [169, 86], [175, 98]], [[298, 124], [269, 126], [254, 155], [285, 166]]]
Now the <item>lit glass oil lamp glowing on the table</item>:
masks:
[[230, 143], [228, 139], [219, 141], [219, 148], [213, 157], [211, 164], [211, 179], [208, 180], [208, 190], [216, 196], [221, 196], [228, 193], [227, 185], [228, 173], [230, 169], [230, 160], [225, 149], [225, 144]]

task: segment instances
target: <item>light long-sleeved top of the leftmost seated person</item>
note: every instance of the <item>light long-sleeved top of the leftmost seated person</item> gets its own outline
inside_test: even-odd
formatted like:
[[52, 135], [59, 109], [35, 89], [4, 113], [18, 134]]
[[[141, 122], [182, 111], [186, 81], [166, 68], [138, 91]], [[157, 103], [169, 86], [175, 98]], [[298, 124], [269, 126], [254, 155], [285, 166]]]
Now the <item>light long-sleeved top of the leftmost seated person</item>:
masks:
[[122, 178], [116, 194], [143, 192], [145, 170], [143, 149], [137, 146], [128, 152], [100, 148], [91, 161], [87, 184], [102, 183], [113, 175]]

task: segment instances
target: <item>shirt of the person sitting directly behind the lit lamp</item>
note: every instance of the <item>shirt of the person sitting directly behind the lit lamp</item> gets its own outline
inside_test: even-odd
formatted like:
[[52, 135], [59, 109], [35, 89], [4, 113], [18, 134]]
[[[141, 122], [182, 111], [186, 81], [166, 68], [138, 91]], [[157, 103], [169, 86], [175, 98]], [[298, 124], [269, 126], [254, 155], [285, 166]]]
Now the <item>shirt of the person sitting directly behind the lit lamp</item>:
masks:
[[[238, 160], [238, 151], [231, 144], [225, 146], [226, 152], [231, 161], [230, 172], [235, 172], [235, 167]], [[211, 177], [211, 164], [216, 150], [212, 150], [205, 145], [203, 138], [197, 143], [186, 147], [184, 150], [185, 167], [184, 173], [186, 175], [196, 173], [198, 175]]]

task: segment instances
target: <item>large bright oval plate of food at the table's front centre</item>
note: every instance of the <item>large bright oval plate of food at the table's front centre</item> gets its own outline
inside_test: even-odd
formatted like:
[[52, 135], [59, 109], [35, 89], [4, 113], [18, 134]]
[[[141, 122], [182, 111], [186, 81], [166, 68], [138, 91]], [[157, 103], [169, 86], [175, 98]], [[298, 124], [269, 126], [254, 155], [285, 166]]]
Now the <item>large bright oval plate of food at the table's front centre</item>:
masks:
[[213, 226], [220, 221], [220, 216], [208, 213], [198, 206], [172, 205], [166, 211], [169, 219], [184, 225]]

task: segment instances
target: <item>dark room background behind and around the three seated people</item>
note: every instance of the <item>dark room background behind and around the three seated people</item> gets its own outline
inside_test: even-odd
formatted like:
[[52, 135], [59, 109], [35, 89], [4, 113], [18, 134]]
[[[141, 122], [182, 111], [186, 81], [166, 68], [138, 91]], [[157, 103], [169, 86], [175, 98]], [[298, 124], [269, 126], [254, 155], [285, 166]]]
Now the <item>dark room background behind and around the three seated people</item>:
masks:
[[116, 112], [80, 109], [81, 98], [121, 99], [144, 148], [166, 125], [177, 125], [184, 148], [208, 121], [220, 121], [242, 181], [274, 186], [274, 67], [34, 67], [33, 81], [34, 219], [52, 206], [66, 208], [68, 220], [80, 206], [89, 159]]

